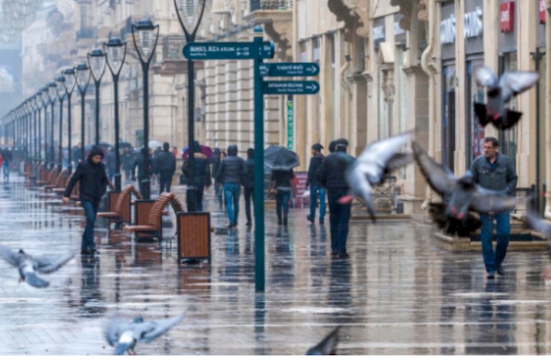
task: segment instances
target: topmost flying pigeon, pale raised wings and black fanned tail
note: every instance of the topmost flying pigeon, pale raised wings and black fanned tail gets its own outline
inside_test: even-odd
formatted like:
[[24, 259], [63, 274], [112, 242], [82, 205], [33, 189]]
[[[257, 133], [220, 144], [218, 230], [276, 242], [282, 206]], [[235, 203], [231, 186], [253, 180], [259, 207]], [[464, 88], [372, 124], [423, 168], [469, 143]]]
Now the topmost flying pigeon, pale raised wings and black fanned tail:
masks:
[[488, 67], [477, 67], [475, 79], [479, 87], [488, 88], [488, 104], [475, 102], [475, 113], [480, 124], [492, 122], [498, 129], [505, 130], [516, 124], [522, 113], [506, 109], [505, 104], [512, 96], [530, 89], [539, 79], [537, 72], [507, 72], [497, 79]]

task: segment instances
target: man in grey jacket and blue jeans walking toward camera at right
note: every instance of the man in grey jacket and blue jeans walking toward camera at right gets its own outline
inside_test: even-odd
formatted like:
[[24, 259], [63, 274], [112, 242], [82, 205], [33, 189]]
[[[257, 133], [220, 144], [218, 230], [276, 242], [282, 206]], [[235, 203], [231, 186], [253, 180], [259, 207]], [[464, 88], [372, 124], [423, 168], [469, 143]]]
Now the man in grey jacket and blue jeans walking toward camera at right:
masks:
[[[499, 152], [499, 142], [494, 137], [484, 138], [484, 155], [480, 155], [472, 162], [470, 171], [475, 182], [481, 187], [506, 191], [508, 194], [514, 192], [517, 186], [517, 173], [514, 171], [511, 161]], [[495, 252], [492, 249], [494, 231], [494, 219], [497, 223], [497, 243]], [[503, 259], [507, 253], [507, 245], [511, 232], [509, 212], [480, 215], [482, 223], [480, 239], [482, 241], [482, 256], [488, 273], [488, 279], [495, 277], [495, 272], [505, 276], [503, 270]]]

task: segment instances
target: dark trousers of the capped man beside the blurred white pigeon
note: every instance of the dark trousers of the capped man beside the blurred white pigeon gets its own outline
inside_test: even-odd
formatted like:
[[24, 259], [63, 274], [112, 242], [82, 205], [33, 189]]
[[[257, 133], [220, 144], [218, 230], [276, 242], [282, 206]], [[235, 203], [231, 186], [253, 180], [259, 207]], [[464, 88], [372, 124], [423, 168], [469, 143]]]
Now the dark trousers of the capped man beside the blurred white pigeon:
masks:
[[346, 190], [327, 190], [329, 199], [329, 221], [331, 224], [331, 251], [346, 252], [349, 236], [351, 204], [339, 204], [338, 200], [347, 194]]

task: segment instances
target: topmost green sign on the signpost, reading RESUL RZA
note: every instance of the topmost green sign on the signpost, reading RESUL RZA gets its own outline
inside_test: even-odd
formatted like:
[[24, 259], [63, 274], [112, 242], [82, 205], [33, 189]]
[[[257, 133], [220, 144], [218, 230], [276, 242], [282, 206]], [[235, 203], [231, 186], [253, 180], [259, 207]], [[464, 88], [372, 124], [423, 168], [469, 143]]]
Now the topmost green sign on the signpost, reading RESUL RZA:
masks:
[[[258, 49], [258, 58], [273, 58], [274, 49], [273, 41], [263, 41]], [[252, 42], [187, 43], [183, 54], [188, 60], [240, 60], [256, 58], [254, 43]]]

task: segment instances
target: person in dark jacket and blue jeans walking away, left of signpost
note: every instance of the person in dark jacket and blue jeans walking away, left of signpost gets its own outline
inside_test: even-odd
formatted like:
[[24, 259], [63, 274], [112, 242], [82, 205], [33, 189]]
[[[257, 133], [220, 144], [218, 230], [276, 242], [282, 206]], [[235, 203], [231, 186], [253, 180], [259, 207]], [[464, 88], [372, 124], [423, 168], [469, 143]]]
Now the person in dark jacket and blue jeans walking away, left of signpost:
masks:
[[239, 196], [245, 175], [245, 161], [237, 156], [237, 146], [228, 147], [228, 156], [220, 161], [216, 173], [216, 182], [224, 185], [224, 195], [229, 218], [228, 228], [237, 226], [239, 219]]

